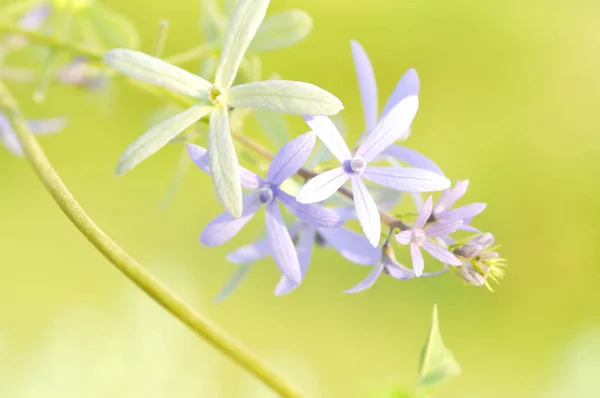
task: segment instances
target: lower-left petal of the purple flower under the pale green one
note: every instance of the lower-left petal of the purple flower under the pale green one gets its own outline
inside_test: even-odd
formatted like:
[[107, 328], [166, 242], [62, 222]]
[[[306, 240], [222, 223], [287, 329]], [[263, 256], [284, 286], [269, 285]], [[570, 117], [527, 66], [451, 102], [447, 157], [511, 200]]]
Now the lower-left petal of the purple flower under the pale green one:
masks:
[[257, 194], [246, 196], [241, 217], [235, 218], [228, 212], [219, 214], [202, 231], [200, 243], [204, 246], [219, 246], [226, 243], [254, 217], [260, 206]]

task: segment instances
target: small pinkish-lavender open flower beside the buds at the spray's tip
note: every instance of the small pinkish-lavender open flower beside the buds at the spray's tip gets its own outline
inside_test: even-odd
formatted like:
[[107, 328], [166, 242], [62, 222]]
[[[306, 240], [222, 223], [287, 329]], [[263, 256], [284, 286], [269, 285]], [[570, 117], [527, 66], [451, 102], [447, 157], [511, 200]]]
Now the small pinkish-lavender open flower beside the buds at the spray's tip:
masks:
[[421, 276], [425, 268], [421, 248], [425, 249], [432, 257], [448, 265], [461, 265], [462, 262], [448, 250], [430, 241], [430, 238], [446, 236], [456, 231], [462, 225], [461, 220], [440, 220], [425, 227], [431, 217], [433, 210], [433, 199], [427, 198], [417, 221], [411, 230], [402, 231], [396, 235], [396, 240], [402, 245], [410, 245], [410, 255], [413, 261], [413, 270], [416, 276]]

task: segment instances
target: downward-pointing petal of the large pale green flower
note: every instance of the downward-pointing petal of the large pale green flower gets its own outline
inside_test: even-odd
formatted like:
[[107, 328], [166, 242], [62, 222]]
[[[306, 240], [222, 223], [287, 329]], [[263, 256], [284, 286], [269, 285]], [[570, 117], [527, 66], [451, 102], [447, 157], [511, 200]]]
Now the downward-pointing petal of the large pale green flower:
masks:
[[214, 108], [208, 126], [208, 166], [217, 197], [234, 217], [242, 215], [240, 167], [229, 129], [225, 106]]

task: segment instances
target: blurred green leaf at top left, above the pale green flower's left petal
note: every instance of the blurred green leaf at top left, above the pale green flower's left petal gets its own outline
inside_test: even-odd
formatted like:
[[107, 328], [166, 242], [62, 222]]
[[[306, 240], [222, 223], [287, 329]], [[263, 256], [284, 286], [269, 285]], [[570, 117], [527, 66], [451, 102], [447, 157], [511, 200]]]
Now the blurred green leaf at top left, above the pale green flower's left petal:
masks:
[[92, 2], [82, 10], [95, 30], [102, 37], [105, 48], [125, 47], [138, 49], [140, 35], [135, 24], [124, 15], [116, 13], [98, 2]]

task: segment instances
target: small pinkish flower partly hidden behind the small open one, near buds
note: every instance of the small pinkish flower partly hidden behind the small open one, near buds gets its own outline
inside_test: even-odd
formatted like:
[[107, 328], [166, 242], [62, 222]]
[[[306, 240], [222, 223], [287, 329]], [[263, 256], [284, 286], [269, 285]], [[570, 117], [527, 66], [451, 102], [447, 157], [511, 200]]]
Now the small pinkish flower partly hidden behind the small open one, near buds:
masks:
[[473, 217], [485, 210], [485, 203], [472, 203], [451, 210], [454, 203], [467, 192], [468, 187], [469, 181], [464, 180], [457, 181], [454, 188], [446, 189], [436, 202], [435, 206], [433, 206], [433, 217], [436, 220], [461, 220], [463, 224], [460, 226], [460, 229], [469, 232], [479, 232], [478, 229], [471, 227], [469, 224]]

